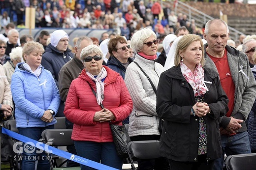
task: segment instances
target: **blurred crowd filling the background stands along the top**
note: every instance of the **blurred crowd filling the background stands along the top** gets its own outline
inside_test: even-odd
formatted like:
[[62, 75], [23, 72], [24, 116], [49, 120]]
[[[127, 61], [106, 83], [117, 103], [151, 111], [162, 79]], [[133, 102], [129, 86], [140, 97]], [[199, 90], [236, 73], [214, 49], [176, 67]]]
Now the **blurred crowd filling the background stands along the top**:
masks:
[[[190, 33], [202, 36], [202, 29], [189, 21], [187, 15], [175, 14], [160, 0], [4, 0], [0, 2], [1, 28], [13, 22], [25, 28], [25, 8], [35, 8], [36, 28], [91, 28], [113, 29], [130, 39], [140, 28], [152, 28], [158, 38], [186, 27]], [[110, 3], [110, 5], [109, 5]], [[19, 12], [18, 12], [19, 11]], [[163, 11], [163, 16], [161, 11]]]

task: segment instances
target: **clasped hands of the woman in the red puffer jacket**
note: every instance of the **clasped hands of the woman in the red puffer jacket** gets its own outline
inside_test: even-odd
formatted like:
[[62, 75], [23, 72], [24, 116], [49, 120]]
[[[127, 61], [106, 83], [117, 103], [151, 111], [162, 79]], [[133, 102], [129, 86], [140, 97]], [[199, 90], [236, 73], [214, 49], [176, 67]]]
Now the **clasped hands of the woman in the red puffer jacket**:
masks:
[[115, 118], [116, 118], [115, 115], [110, 110], [108, 110], [106, 108], [96, 112], [94, 115], [94, 121], [97, 121], [100, 123], [105, 122], [105, 121], [112, 121]]

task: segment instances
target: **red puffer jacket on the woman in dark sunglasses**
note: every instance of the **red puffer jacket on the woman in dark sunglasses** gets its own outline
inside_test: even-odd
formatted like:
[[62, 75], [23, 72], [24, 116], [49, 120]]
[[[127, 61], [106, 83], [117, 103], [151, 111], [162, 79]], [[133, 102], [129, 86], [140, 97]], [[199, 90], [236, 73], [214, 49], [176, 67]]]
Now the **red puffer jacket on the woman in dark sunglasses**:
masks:
[[[110, 68], [103, 66], [107, 71], [104, 81], [103, 106], [109, 109], [116, 117], [114, 124], [122, 125], [132, 110], [132, 100], [123, 78]], [[82, 70], [80, 76], [73, 80], [67, 94], [64, 114], [74, 123], [72, 140], [113, 142], [112, 133], [108, 122], [93, 121], [94, 115], [101, 107], [96, 102], [90, 85], [96, 90], [92, 81]]]

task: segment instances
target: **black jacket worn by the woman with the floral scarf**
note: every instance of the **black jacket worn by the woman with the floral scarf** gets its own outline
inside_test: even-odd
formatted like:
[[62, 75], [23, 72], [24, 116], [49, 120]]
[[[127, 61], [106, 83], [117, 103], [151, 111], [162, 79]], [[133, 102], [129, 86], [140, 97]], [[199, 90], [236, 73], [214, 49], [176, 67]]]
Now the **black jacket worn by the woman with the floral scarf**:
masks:
[[[204, 95], [211, 113], [205, 116], [207, 127], [207, 159], [222, 155], [219, 117], [227, 111], [228, 99], [218, 74], [204, 70], [204, 80], [209, 91]], [[197, 161], [198, 117], [191, 115], [196, 103], [191, 85], [181, 73], [180, 67], [172, 67], [160, 76], [156, 111], [164, 120], [160, 138], [160, 155], [174, 161]]]

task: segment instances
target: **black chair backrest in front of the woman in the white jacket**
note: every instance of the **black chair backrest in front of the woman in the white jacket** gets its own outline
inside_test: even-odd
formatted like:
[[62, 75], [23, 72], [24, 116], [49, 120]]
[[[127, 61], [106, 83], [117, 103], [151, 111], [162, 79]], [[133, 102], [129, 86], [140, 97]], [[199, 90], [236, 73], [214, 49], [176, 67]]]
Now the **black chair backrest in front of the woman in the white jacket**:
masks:
[[127, 145], [128, 155], [138, 159], [156, 159], [159, 155], [159, 141], [131, 141]]

